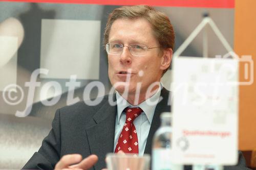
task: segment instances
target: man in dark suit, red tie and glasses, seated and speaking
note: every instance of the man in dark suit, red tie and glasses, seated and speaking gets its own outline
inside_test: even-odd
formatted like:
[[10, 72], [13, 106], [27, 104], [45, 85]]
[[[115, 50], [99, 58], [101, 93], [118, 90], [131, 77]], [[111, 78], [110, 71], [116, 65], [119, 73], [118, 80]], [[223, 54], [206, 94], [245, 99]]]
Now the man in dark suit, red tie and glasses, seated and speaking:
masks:
[[[106, 153], [151, 154], [160, 113], [170, 111], [169, 92], [159, 82], [172, 60], [174, 39], [168, 17], [154, 8], [115, 9], [104, 44], [116, 93], [96, 106], [79, 102], [58, 109], [52, 130], [24, 169], [102, 169]], [[238, 169], [244, 166], [240, 159]]]

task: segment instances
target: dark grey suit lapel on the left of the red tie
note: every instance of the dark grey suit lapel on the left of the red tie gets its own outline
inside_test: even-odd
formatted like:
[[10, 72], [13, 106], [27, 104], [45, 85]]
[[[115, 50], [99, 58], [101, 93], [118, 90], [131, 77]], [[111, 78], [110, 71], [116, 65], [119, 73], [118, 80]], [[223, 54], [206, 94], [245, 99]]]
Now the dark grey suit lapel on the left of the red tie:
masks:
[[104, 168], [106, 153], [114, 150], [116, 112], [116, 106], [110, 106], [106, 101], [93, 116], [92, 126], [86, 130], [91, 154], [99, 158], [95, 169]]

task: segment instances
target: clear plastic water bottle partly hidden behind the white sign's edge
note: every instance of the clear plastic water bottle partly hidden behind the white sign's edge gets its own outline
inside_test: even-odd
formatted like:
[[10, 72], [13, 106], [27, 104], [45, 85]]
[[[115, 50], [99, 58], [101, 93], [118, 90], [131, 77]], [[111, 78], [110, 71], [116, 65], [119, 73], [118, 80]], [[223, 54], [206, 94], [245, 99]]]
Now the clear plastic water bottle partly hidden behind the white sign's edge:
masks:
[[182, 170], [183, 165], [172, 163], [172, 115], [160, 115], [161, 126], [153, 138], [152, 170]]

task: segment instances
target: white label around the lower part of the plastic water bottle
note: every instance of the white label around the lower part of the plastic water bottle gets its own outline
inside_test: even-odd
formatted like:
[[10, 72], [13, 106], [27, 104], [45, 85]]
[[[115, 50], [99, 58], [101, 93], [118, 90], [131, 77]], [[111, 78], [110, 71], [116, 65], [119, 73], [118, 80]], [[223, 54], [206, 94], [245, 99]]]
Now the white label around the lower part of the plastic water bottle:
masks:
[[153, 170], [182, 170], [183, 166], [172, 163], [172, 150], [158, 148], [152, 154]]

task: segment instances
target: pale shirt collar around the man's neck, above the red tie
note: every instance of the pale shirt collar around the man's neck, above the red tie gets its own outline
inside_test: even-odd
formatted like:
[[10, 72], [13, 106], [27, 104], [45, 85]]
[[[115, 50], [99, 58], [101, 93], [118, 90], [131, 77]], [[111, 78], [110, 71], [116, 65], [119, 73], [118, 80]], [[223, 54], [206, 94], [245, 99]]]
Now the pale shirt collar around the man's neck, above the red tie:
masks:
[[[159, 101], [159, 98], [161, 95], [161, 89], [162, 89], [162, 84], [160, 84], [160, 88], [158, 88], [158, 90], [155, 94], [153, 94], [150, 98], [148, 98], [147, 100], [145, 100], [144, 102], [142, 102], [141, 104], [139, 104], [137, 106], [131, 105], [129, 102], [127, 102], [125, 99], [123, 99], [123, 97], [116, 91], [118, 124], [120, 122], [121, 114], [126, 107], [140, 107], [143, 110], [143, 112], [145, 113], [145, 115], [148, 119], [148, 122], [150, 122], [150, 124], [151, 124], [156, 106], [158, 104], [158, 101]], [[157, 101], [157, 102], [154, 102], [154, 101]], [[154, 104], [152, 104], [152, 103], [154, 103]]]

